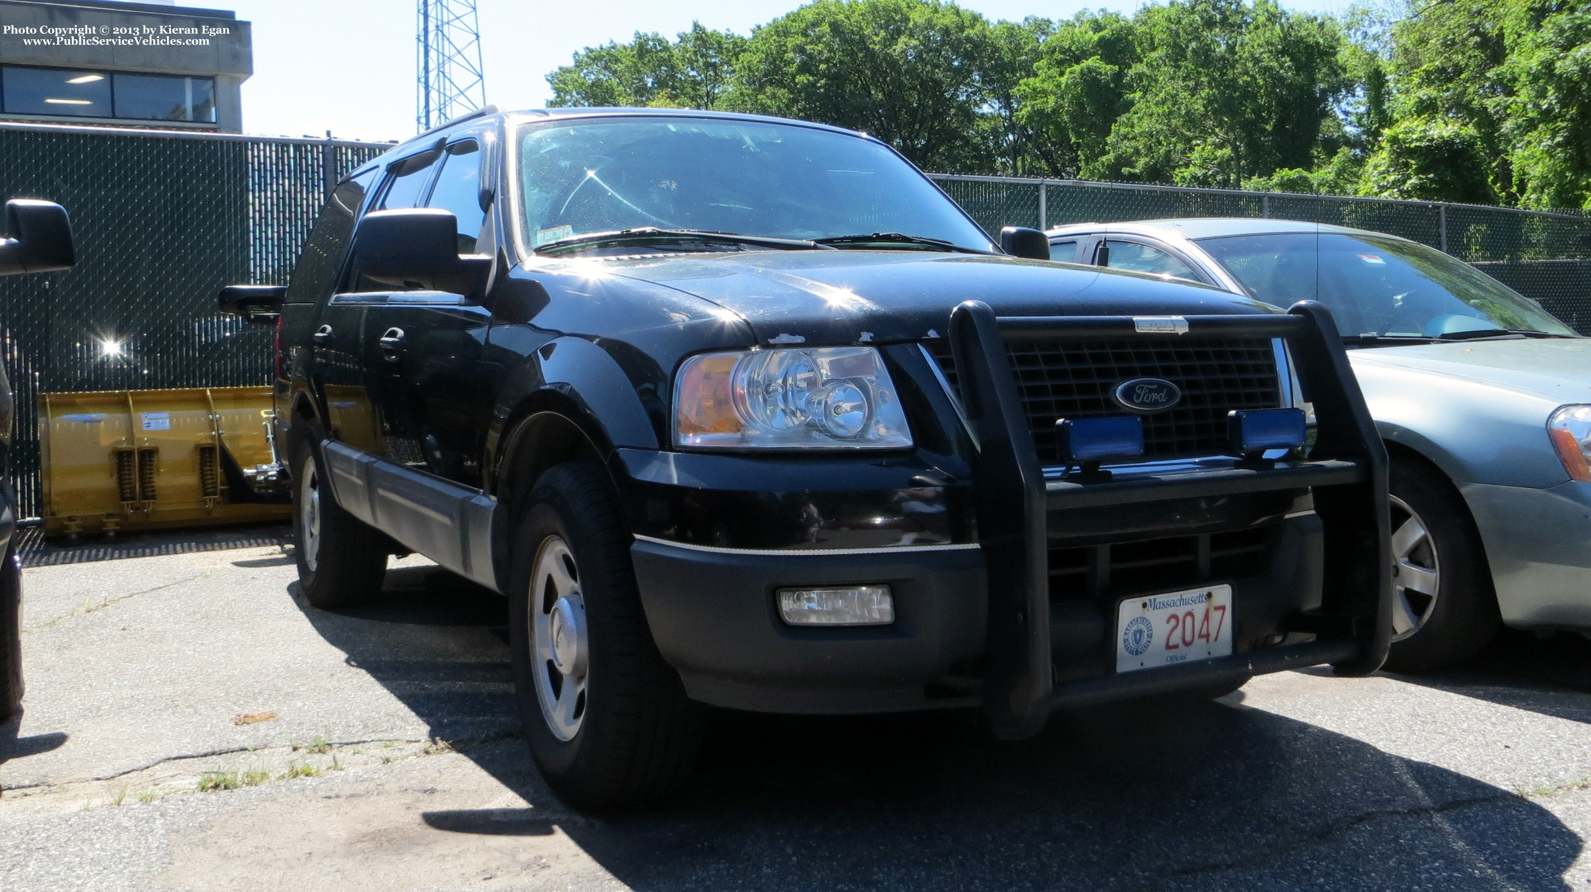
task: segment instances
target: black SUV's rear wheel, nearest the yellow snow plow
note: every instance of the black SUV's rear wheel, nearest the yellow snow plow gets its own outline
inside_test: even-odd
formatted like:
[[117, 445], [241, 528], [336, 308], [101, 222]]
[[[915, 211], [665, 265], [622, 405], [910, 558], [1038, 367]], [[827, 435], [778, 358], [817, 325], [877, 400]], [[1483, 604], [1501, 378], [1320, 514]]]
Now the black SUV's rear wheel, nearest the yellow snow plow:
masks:
[[293, 438], [293, 537], [299, 586], [310, 605], [334, 610], [374, 599], [391, 540], [342, 510], [325, 486], [320, 430], [301, 421]]

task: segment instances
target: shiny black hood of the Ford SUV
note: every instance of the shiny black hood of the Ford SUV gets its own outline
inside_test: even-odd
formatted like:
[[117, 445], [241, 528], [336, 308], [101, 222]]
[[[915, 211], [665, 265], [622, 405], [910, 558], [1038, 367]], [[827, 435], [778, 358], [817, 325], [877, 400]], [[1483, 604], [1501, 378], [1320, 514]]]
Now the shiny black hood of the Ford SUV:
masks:
[[582, 263], [711, 301], [772, 344], [937, 338], [961, 301], [1001, 315], [1276, 312], [1204, 285], [993, 255], [799, 250]]

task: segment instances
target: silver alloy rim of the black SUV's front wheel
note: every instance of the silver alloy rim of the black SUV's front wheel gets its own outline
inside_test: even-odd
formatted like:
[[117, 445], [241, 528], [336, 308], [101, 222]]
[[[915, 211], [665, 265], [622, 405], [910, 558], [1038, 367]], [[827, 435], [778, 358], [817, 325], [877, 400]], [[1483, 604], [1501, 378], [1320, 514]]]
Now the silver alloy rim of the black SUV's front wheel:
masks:
[[579, 569], [562, 538], [549, 535], [541, 542], [525, 604], [541, 717], [552, 736], [571, 741], [585, 718], [590, 644]]

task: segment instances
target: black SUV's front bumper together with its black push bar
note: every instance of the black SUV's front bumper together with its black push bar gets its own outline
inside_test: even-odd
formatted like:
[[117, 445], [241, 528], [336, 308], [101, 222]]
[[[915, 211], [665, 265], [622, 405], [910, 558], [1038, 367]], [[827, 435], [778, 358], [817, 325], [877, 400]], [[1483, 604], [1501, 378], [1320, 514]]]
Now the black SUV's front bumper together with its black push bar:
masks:
[[[1021, 737], [1064, 706], [1316, 663], [1343, 674], [1381, 666], [1391, 640], [1386, 451], [1324, 307], [1166, 327], [996, 319], [967, 303], [950, 322], [977, 444], [964, 468], [921, 451], [870, 462], [619, 451], [643, 605], [690, 696], [778, 712], [977, 704], [998, 734]], [[1168, 336], [1287, 339], [1317, 417], [1309, 459], [1047, 475], [1006, 344]], [[907, 502], [940, 519], [907, 529]], [[869, 532], [866, 518], [902, 526]], [[1243, 575], [1217, 569], [1214, 537], [1266, 529], [1274, 540], [1263, 562]], [[934, 546], [916, 546], [923, 534]], [[1118, 546], [1166, 537], [1193, 540], [1193, 578], [1146, 583], [1134, 575], [1144, 561], [1112, 562]], [[1069, 575], [1076, 565], [1058, 551], [1083, 554], [1083, 575]], [[1219, 581], [1233, 583], [1233, 618], [1244, 624], [1233, 656], [1114, 672], [1117, 599]], [[826, 583], [889, 583], [896, 624], [783, 626], [775, 589]]]

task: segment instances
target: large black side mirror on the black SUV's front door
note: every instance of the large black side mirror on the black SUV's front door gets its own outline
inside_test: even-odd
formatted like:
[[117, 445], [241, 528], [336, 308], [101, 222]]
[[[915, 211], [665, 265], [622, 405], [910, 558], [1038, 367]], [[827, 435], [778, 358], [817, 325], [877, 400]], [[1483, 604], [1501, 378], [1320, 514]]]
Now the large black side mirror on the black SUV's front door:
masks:
[[492, 256], [458, 253], [458, 218], [436, 207], [374, 210], [353, 231], [356, 272], [401, 288], [479, 296]]

